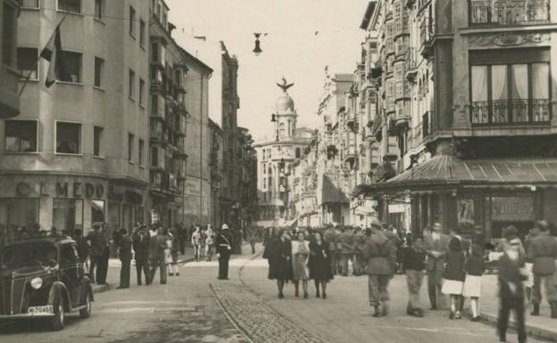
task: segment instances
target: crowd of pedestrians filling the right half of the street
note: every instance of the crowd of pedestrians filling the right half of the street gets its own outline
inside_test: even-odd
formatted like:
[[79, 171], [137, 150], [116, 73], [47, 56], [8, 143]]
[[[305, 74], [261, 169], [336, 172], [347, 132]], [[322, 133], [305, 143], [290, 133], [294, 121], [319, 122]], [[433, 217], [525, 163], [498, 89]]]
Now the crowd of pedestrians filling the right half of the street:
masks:
[[[519, 342], [526, 342], [524, 313], [532, 307], [539, 315], [542, 283], [545, 285], [551, 317], [557, 318], [557, 240], [550, 224], [538, 221], [526, 237], [514, 226], [503, 229], [499, 247], [487, 242], [483, 230], [463, 237], [458, 229], [445, 230], [435, 223], [425, 235], [402, 233], [378, 221], [362, 229], [329, 225], [321, 230], [270, 228], [265, 232], [263, 257], [269, 263], [269, 279], [276, 280], [278, 298], [285, 298], [285, 286], [294, 284], [295, 297], [309, 298], [308, 282], [315, 284], [316, 298], [327, 298], [327, 284], [334, 275], [368, 275], [368, 297], [375, 317], [389, 313], [390, 280], [405, 274], [408, 289], [406, 313], [421, 317], [420, 290], [426, 276], [429, 309], [440, 308], [449, 299], [450, 319], [462, 318], [465, 298], [470, 298], [471, 321], [480, 320], [482, 275], [493, 268], [488, 256], [498, 249], [500, 309], [497, 332], [506, 341], [511, 311], [515, 312]], [[350, 268], [351, 266], [351, 268]], [[444, 297], [445, 296], [445, 297]]]

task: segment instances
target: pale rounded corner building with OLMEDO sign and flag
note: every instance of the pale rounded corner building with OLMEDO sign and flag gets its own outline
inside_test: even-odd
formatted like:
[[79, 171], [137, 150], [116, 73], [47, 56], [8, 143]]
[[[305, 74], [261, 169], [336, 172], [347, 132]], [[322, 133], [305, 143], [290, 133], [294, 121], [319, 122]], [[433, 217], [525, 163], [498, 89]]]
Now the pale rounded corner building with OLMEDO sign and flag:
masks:
[[[40, 50], [61, 26], [71, 74], [46, 88]], [[21, 2], [21, 115], [0, 122], [0, 228], [131, 229], [145, 221], [149, 3]], [[20, 81], [22, 86], [22, 81]]]

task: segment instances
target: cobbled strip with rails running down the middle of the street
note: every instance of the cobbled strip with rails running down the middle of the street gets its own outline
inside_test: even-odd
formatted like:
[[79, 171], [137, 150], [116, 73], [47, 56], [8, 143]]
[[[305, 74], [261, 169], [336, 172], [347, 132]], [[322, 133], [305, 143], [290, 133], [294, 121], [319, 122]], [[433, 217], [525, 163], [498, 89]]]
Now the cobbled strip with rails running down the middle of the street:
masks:
[[278, 314], [241, 283], [214, 282], [211, 287], [220, 305], [255, 343], [324, 343]]

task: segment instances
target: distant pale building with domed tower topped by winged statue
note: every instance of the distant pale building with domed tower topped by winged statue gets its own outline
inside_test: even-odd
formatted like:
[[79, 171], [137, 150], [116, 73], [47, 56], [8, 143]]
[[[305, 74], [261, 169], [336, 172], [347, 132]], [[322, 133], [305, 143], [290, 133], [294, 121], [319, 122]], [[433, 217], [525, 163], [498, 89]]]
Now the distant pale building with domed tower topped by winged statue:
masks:
[[303, 149], [312, 142], [313, 130], [296, 127], [294, 100], [287, 94], [283, 79], [282, 94], [275, 102], [274, 139], [254, 144], [257, 151], [258, 216], [256, 225], [271, 226], [280, 220], [294, 221], [290, 213], [288, 176], [293, 164], [302, 157]]

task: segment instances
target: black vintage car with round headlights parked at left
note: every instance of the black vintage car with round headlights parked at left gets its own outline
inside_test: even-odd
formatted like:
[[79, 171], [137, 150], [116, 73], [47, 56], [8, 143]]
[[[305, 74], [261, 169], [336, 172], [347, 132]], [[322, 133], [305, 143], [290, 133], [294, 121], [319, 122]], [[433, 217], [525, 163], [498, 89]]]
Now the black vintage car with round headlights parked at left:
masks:
[[0, 251], [0, 320], [45, 318], [62, 330], [66, 313], [87, 318], [93, 300], [70, 238], [19, 241]]

